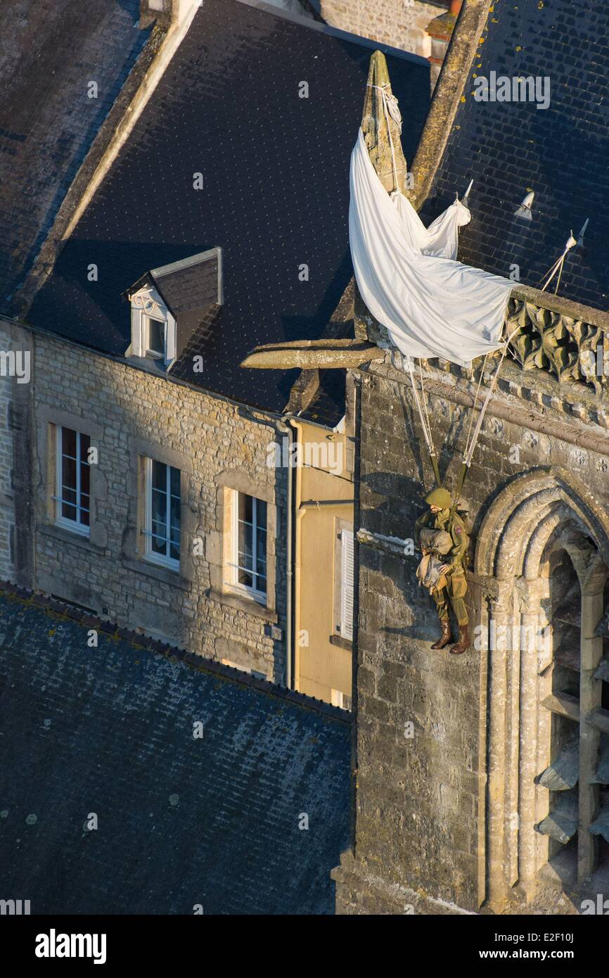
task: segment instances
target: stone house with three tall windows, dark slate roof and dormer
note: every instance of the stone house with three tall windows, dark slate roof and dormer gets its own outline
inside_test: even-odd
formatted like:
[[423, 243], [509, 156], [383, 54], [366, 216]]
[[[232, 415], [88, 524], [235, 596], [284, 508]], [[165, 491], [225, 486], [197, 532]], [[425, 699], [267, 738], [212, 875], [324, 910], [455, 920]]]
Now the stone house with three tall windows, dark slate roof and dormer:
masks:
[[[156, 20], [157, 53], [146, 49], [146, 63], [112, 109], [113, 135], [106, 133], [103, 145], [96, 140], [94, 158], [85, 159], [71, 185], [20, 291], [19, 320], [2, 326], [4, 354], [20, 347], [31, 359], [28, 383], [5, 376], [1, 385], [2, 573], [120, 628], [298, 688], [297, 473], [283, 461], [270, 465], [269, 446], [297, 440], [298, 423], [290, 426], [289, 415], [300, 413], [301, 422], [309, 417], [308, 445], [336, 439], [351, 449], [351, 429], [338, 430], [344, 383], [338, 397], [321, 391], [320, 404], [311, 372], [305, 404], [283, 374], [269, 379], [239, 365], [256, 343], [288, 336], [290, 316], [307, 322], [312, 336], [329, 326], [344, 335], [351, 326], [349, 315], [335, 322], [349, 281], [347, 188], [342, 169], [327, 159], [335, 163], [341, 142], [343, 156], [349, 152], [351, 110], [371, 45], [257, 3], [143, 0], [142, 10]], [[253, 67], [243, 43], [252, 31], [265, 39]], [[227, 38], [239, 71], [225, 70]], [[316, 71], [324, 79], [332, 71], [333, 84], [311, 100], [307, 123], [295, 126], [306, 100], [283, 98], [278, 72], [283, 66], [297, 86], [306, 77], [298, 66], [310, 64], [312, 51]], [[403, 98], [421, 118], [427, 66], [409, 55], [393, 61]], [[229, 111], [245, 75], [256, 111], [266, 105], [277, 111], [272, 139], [256, 111]], [[210, 77], [213, 94], [203, 98]], [[213, 137], [213, 153], [208, 146], [203, 152], [200, 134], [216, 125], [223, 139]], [[294, 130], [289, 143], [287, 130]], [[186, 177], [171, 172], [175, 133]], [[259, 149], [274, 156], [278, 172], [291, 174], [296, 148], [301, 144], [304, 153], [320, 133], [327, 133], [326, 156], [311, 156], [307, 180], [326, 194], [315, 220], [342, 227], [336, 236], [321, 234], [298, 195], [285, 198], [282, 181], [268, 179]], [[255, 182], [258, 167], [261, 190], [245, 194], [236, 210], [234, 183]], [[226, 181], [229, 170], [233, 182]], [[163, 183], [164, 193], [150, 194]], [[303, 193], [310, 200], [308, 189]], [[270, 214], [277, 217], [272, 236]], [[315, 275], [286, 257], [283, 236]], [[294, 371], [291, 381], [296, 377]], [[336, 495], [340, 518], [351, 526], [349, 456], [349, 471], [340, 476], [313, 466], [299, 483], [307, 497], [298, 505], [317, 507]], [[305, 671], [307, 692], [329, 700], [334, 690], [348, 706], [350, 646], [330, 644], [340, 622], [333, 620], [336, 556], [326, 515], [311, 513], [305, 527], [307, 546], [316, 527], [327, 539], [314, 550], [332, 556], [332, 565], [323, 565], [325, 645]], [[310, 582], [302, 583], [310, 597]], [[307, 608], [309, 615], [319, 611], [315, 601]], [[306, 630], [314, 632], [309, 619]], [[336, 670], [332, 655], [340, 660]]]

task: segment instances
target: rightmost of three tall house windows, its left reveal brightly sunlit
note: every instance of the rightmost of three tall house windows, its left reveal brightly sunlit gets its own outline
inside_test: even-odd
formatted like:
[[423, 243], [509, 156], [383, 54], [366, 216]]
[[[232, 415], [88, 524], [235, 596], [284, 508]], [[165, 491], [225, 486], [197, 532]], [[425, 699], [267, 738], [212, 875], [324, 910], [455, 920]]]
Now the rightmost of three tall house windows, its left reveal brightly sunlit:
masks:
[[267, 600], [267, 504], [234, 490], [232, 586], [264, 604]]

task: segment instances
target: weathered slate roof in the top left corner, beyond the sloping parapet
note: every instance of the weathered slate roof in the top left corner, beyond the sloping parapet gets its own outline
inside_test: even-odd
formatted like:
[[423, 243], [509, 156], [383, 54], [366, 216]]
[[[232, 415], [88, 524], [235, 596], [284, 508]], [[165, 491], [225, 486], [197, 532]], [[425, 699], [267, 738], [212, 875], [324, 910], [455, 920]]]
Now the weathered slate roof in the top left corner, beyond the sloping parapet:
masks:
[[[11, 0], [0, 30], [0, 309], [22, 280], [148, 33], [139, 0]], [[98, 98], [87, 97], [88, 82]]]

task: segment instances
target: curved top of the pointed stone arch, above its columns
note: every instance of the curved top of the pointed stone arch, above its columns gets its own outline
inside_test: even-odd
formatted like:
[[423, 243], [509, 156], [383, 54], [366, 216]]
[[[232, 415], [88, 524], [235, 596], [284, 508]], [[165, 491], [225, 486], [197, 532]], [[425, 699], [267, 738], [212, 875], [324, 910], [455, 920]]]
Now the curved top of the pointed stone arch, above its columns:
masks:
[[[474, 560], [476, 575], [498, 581], [533, 577], [535, 558], [541, 557], [559, 524], [568, 521], [592, 538], [609, 566], [609, 517], [587, 487], [568, 469], [559, 467], [519, 476], [500, 492], [482, 521]], [[568, 543], [566, 539], [567, 549]], [[580, 569], [578, 575], [582, 580]]]

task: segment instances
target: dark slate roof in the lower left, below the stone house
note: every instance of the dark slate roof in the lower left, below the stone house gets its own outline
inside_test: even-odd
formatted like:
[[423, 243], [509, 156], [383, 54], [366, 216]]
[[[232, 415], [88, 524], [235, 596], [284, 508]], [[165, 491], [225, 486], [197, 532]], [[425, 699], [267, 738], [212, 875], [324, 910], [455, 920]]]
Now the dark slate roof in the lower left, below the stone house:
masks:
[[89, 647], [86, 626], [6, 595], [0, 668], [7, 898], [32, 913], [333, 912], [348, 723], [103, 632]]

